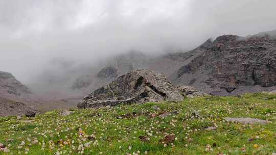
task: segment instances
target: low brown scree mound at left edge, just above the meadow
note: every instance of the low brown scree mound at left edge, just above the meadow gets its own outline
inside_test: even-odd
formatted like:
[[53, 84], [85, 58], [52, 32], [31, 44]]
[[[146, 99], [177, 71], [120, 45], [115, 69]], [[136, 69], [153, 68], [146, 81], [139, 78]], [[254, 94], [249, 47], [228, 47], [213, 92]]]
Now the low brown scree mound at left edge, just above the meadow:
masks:
[[0, 116], [9, 116], [9, 115], [28, 115], [29, 113], [36, 114], [38, 113], [31, 107], [28, 107], [22, 102], [13, 101], [6, 98], [0, 97]]

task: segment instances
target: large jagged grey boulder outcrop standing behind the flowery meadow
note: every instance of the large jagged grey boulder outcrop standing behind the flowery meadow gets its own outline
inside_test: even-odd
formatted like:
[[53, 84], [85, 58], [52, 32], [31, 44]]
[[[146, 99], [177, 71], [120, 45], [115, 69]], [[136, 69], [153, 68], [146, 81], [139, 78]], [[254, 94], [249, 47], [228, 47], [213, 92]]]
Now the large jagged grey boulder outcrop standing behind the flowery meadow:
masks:
[[181, 93], [164, 74], [137, 69], [87, 95], [78, 108], [98, 108], [147, 101], [181, 101]]

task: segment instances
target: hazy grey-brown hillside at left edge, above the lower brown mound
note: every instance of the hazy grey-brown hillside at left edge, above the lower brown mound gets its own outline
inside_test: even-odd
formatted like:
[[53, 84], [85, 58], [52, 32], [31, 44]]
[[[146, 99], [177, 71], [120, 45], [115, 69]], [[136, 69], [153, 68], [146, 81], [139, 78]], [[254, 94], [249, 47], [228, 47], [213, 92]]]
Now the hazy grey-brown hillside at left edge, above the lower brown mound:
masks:
[[0, 71], [0, 94], [2, 96], [21, 96], [30, 93], [30, 89], [17, 81], [11, 73]]

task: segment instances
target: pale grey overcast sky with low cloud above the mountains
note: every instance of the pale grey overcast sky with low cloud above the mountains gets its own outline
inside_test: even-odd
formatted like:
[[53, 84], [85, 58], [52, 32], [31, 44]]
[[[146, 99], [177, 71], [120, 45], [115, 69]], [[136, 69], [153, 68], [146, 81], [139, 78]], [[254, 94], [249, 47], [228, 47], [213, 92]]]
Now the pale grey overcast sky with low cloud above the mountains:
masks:
[[191, 49], [210, 37], [276, 29], [275, 0], [0, 0], [0, 70], [28, 81], [62, 57]]

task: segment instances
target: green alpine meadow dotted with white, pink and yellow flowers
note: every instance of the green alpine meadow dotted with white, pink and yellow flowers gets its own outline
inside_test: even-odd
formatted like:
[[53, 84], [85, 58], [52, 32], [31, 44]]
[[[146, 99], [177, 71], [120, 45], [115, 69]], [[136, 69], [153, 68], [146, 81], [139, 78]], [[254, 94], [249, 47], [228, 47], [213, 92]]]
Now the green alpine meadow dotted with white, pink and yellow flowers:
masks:
[[[197, 117], [195, 111], [202, 118]], [[158, 116], [167, 113], [172, 114], [164, 118]], [[226, 122], [223, 117], [268, 119], [272, 123], [240, 124]], [[149, 102], [98, 110], [74, 110], [68, 116], [61, 116], [61, 111], [52, 111], [30, 119], [34, 121], [20, 122], [16, 117], [0, 118], [0, 143], [9, 150], [0, 150], [0, 154], [276, 152], [275, 94], [200, 97], [179, 103]], [[205, 130], [210, 126], [217, 128]], [[159, 142], [171, 134], [176, 137], [172, 143], [165, 147]], [[147, 136], [150, 140], [143, 142], [139, 136]]]

